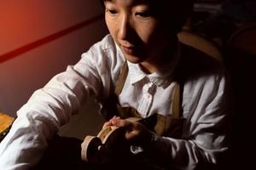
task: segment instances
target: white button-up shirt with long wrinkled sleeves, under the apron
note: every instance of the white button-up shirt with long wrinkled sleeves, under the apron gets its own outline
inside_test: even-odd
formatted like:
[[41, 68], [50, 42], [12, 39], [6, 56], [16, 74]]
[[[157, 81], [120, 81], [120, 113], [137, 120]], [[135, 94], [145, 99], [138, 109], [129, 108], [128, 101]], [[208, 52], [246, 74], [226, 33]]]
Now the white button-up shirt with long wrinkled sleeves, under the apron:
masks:
[[[169, 115], [176, 82], [166, 77], [172, 73], [178, 56], [177, 51], [169, 71], [162, 71], [168, 74], [147, 75], [139, 65], [128, 62], [120, 104], [136, 108], [143, 117], [155, 112]], [[105, 99], [113, 93], [124, 63], [124, 55], [108, 35], [82, 54], [76, 65], [68, 66], [67, 71], [32, 94], [0, 144], [0, 169], [27, 169], [35, 165], [47, 148], [47, 141], [88, 99], [96, 97], [103, 112]], [[223, 71], [185, 82], [183, 139], [155, 136], [154, 147], [160, 156], [180, 169], [193, 169], [200, 161], [216, 164], [218, 155], [228, 149], [225, 87]]]

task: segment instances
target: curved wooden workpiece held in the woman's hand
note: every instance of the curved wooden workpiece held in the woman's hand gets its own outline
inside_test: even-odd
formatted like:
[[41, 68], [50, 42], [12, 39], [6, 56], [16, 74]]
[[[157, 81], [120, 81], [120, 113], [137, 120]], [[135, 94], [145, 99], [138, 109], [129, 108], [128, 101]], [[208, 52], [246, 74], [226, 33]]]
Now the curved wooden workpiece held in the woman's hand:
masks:
[[[140, 119], [130, 117], [126, 120], [137, 122]], [[103, 163], [114, 155], [130, 150], [129, 144], [125, 141], [125, 128], [115, 126], [104, 127], [97, 136], [86, 136], [81, 147], [82, 160], [92, 163]]]

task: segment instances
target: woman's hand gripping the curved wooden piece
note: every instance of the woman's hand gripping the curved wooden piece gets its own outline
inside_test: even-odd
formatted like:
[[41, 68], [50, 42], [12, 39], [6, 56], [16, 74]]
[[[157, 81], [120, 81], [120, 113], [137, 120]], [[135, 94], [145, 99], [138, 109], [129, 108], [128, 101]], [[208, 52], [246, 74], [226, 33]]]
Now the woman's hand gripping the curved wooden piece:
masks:
[[112, 119], [104, 123], [103, 128], [108, 126], [125, 127], [125, 139], [138, 146], [149, 144], [153, 135], [142, 123], [130, 122], [119, 116], [113, 116]]

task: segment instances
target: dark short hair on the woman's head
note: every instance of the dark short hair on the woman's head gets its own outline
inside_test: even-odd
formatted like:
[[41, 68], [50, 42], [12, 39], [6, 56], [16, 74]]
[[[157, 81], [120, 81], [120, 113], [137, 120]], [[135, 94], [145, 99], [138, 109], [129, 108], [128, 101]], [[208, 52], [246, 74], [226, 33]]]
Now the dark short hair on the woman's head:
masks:
[[[108, 0], [99, 1], [104, 7], [104, 2]], [[192, 13], [194, 0], [149, 0], [149, 3], [157, 8], [156, 13], [170, 31], [177, 33]]]

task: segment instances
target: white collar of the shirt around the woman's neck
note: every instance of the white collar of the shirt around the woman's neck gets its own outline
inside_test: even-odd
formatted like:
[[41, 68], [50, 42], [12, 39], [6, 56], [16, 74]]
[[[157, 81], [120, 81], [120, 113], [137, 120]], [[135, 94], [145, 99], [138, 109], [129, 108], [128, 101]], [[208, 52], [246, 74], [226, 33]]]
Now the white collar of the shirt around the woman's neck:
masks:
[[180, 58], [180, 54], [180, 44], [178, 42], [177, 52], [173, 55], [169, 64], [161, 68], [160, 71], [156, 71], [149, 75], [142, 70], [140, 65], [127, 61], [129, 68], [128, 74], [130, 74], [130, 83], [135, 84], [143, 79], [148, 79], [149, 82], [154, 83], [156, 86], [166, 88], [172, 82], [172, 73], [177, 66], [177, 61]]

